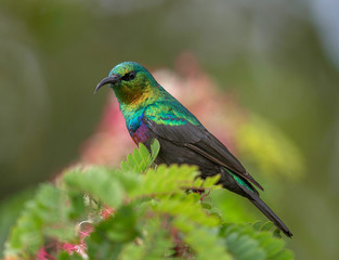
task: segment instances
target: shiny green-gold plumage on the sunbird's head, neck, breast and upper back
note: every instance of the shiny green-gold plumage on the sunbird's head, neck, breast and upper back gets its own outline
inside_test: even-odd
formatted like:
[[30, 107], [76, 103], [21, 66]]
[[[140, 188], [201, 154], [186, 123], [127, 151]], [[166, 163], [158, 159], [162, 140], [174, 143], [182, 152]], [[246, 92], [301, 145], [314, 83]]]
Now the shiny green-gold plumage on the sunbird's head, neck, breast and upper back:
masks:
[[122, 80], [114, 87], [128, 130], [136, 129], [140, 126], [140, 118], [144, 115], [156, 123], [180, 126], [188, 121], [195, 126], [201, 125], [140, 64], [121, 63], [114, 67], [108, 76], [126, 75], [131, 70], [136, 74], [133, 84]]

